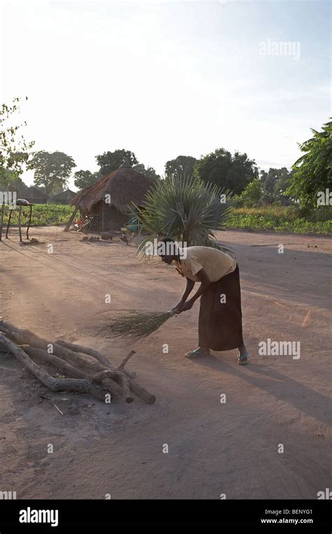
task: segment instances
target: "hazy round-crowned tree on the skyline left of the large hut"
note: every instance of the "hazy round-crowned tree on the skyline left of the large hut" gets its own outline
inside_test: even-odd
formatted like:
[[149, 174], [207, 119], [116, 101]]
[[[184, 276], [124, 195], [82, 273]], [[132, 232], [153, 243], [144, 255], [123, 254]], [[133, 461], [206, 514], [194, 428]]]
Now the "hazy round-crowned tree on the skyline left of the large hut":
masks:
[[71, 156], [64, 152], [35, 152], [28, 168], [34, 170], [34, 184], [44, 186], [46, 195], [55, 193], [60, 187], [65, 189], [71, 170], [76, 167]]

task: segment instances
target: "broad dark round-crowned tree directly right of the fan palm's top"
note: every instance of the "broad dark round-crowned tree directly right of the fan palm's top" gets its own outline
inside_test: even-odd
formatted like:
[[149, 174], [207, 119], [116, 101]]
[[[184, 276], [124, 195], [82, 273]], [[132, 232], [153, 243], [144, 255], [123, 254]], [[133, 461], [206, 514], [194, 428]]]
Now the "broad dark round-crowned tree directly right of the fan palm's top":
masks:
[[256, 161], [250, 160], [245, 153], [235, 152], [232, 156], [225, 149], [216, 149], [195, 163], [194, 174], [204, 182], [240, 194], [249, 182], [258, 178], [258, 168]]

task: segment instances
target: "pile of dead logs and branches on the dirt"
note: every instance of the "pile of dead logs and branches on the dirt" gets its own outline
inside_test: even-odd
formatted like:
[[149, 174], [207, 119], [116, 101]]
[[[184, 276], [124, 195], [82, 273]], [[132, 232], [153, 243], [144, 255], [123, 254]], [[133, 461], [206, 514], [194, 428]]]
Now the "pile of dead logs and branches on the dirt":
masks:
[[[3, 320], [0, 320], [0, 348], [15, 356], [53, 392], [88, 393], [104, 402], [117, 399], [129, 403], [134, 397], [139, 397], [146, 404], [155, 402], [155, 396], [134, 381], [136, 374], [125, 369], [134, 350], [115, 367], [97, 350], [68, 341], [47, 341], [30, 330], [14, 327]], [[55, 378], [43, 365], [61, 371], [66, 378]]]

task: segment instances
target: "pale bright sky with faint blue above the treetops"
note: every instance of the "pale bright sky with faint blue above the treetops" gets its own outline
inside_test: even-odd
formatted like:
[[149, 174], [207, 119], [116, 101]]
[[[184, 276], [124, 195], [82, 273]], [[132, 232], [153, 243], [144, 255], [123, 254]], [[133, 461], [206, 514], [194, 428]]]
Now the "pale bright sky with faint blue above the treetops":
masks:
[[291, 167], [331, 116], [331, 4], [0, 0], [0, 67], [34, 150], [74, 171], [123, 148], [158, 174], [221, 147]]

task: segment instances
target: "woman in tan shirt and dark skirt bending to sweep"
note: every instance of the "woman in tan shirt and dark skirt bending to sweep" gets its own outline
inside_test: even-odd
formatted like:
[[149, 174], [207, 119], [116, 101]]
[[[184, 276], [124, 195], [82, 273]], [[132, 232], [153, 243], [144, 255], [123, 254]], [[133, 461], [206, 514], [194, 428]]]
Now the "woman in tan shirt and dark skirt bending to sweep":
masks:
[[[248, 364], [249, 355], [242, 338], [240, 275], [235, 259], [211, 247], [177, 247], [170, 238], [159, 242], [158, 255], [169, 265], [174, 261], [177, 271], [187, 280], [184, 294], [173, 310], [177, 313], [190, 310], [200, 297], [199, 346], [186, 356], [210, 355], [210, 349], [237, 348], [237, 362]], [[195, 282], [200, 282], [200, 287], [188, 299]]]

